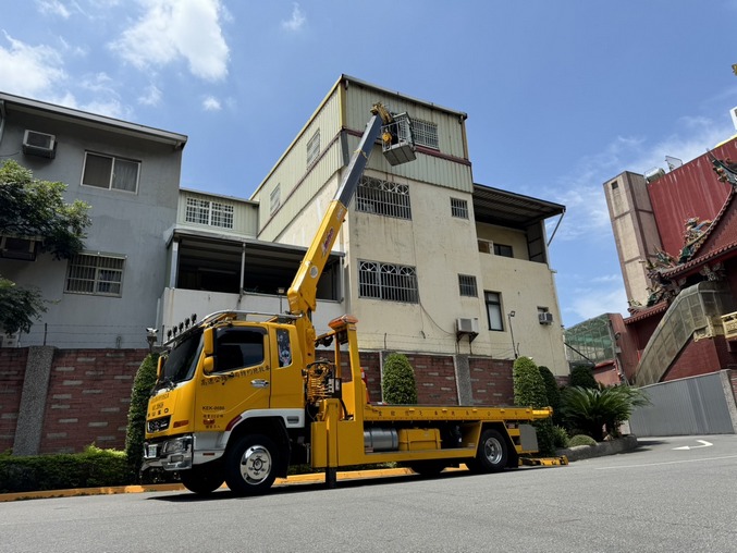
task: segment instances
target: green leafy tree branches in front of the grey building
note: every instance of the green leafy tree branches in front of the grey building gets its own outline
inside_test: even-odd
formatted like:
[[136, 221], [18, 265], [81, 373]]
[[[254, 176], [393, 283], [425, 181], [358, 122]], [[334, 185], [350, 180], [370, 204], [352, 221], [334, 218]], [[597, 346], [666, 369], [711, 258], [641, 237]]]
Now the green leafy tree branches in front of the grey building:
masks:
[[[64, 202], [66, 185], [38, 181], [30, 170], [9, 160], [0, 165], [0, 235], [35, 238], [38, 253], [69, 259], [84, 248], [90, 220], [84, 201]], [[28, 332], [46, 311], [38, 290], [22, 288], [0, 275], [0, 328]]]

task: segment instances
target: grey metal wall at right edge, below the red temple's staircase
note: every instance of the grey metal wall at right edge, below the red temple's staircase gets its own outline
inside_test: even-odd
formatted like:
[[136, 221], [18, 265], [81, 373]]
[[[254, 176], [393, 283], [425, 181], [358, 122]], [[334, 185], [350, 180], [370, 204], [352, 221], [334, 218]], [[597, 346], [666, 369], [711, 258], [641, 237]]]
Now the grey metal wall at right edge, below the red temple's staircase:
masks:
[[631, 432], [638, 437], [735, 433], [729, 415], [735, 398], [725, 389], [723, 372], [643, 386], [652, 405], [632, 413]]

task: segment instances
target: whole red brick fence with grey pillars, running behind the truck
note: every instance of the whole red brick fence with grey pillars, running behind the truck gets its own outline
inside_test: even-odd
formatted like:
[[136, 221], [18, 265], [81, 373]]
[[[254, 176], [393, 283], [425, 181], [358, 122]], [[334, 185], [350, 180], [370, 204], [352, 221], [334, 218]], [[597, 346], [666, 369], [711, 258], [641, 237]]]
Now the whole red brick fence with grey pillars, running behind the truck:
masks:
[[[133, 380], [148, 351], [46, 348], [51, 366], [44, 388], [32, 370], [33, 349], [0, 349], [0, 452], [72, 453], [91, 443], [122, 450]], [[372, 402], [381, 401], [381, 365], [389, 353], [361, 353]], [[511, 360], [405, 355], [415, 368], [420, 404], [514, 403]], [[34, 393], [40, 401], [29, 401]], [[28, 433], [29, 445], [22, 435]]]

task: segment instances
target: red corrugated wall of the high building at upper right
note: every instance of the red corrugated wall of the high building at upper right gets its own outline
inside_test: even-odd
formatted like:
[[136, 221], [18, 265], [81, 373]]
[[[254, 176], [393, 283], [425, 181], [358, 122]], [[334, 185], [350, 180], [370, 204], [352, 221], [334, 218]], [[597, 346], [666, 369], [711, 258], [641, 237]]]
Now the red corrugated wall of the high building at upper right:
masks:
[[[713, 153], [737, 162], [737, 139]], [[712, 167], [704, 153], [648, 185], [661, 244], [676, 259], [684, 247], [684, 223], [692, 217], [713, 220], [729, 193], [730, 185], [718, 182]]]

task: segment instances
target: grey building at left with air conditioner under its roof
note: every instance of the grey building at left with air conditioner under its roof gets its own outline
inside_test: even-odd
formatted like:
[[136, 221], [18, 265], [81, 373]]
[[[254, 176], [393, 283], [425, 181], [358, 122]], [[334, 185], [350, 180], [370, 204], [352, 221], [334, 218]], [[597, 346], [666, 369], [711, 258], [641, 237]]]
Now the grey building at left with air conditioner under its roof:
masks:
[[186, 142], [177, 133], [0, 94], [0, 159], [17, 160], [38, 180], [67, 184], [65, 200], [89, 204], [93, 222], [85, 250], [69, 261], [35, 255], [28, 237], [3, 238], [0, 274], [38, 287], [48, 300], [30, 333], [4, 336], [5, 346], [147, 347]]

